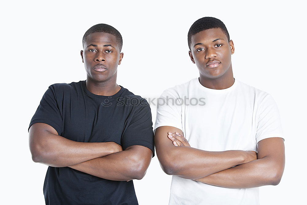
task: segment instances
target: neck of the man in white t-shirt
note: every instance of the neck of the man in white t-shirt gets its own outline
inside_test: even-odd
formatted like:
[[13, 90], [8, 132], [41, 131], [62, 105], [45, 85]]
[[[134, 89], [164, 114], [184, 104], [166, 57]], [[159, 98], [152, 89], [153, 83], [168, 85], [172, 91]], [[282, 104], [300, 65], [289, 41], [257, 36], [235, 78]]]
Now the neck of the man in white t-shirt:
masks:
[[235, 79], [233, 78], [232, 68], [230, 68], [224, 73], [223, 76], [219, 78], [208, 78], [200, 74], [199, 82], [202, 86], [215, 90], [222, 90], [231, 87]]

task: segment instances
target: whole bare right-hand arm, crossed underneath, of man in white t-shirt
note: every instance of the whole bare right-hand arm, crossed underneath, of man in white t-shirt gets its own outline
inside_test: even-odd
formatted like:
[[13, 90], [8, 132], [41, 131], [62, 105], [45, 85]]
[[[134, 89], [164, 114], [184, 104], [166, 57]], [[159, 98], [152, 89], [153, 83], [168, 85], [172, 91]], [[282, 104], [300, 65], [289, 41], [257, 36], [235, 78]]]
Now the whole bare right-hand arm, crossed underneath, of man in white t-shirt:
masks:
[[284, 142], [280, 137], [271, 137], [258, 142], [257, 160], [196, 179], [196, 181], [227, 188], [277, 185], [282, 178], [284, 168]]

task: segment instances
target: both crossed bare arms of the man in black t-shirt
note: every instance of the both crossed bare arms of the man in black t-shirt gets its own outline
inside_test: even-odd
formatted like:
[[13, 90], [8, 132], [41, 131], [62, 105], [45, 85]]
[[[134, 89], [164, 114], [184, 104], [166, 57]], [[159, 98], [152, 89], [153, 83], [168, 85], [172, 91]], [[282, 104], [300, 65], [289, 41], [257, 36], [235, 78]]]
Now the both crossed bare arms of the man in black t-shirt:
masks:
[[30, 127], [29, 147], [34, 162], [52, 167], [70, 167], [115, 181], [142, 179], [153, 154], [149, 148], [140, 145], [123, 151], [114, 142], [68, 140], [45, 123], [35, 123]]

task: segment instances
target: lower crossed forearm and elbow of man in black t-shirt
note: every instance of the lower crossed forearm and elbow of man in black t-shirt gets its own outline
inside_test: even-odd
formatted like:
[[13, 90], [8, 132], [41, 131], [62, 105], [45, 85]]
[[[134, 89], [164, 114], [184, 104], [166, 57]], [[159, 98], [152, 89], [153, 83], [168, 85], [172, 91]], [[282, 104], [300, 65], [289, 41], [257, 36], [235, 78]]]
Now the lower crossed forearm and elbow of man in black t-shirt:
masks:
[[137, 153], [133, 150], [125, 150], [69, 167], [114, 181], [142, 179], [152, 157], [152, 152], [149, 149], [145, 152]]

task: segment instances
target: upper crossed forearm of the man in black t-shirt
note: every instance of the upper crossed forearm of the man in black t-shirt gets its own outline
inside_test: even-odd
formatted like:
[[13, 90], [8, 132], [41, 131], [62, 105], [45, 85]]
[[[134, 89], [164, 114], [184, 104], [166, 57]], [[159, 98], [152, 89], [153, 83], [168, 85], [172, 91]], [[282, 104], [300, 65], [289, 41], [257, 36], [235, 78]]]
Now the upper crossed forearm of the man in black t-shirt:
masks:
[[[36, 144], [36, 162], [52, 167], [67, 167], [113, 153], [110, 143], [86, 143], [49, 134]], [[33, 149], [34, 150], [34, 149]]]

